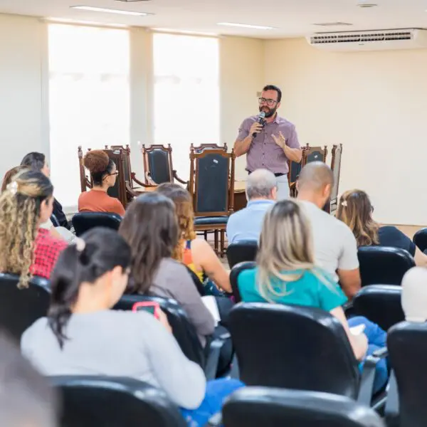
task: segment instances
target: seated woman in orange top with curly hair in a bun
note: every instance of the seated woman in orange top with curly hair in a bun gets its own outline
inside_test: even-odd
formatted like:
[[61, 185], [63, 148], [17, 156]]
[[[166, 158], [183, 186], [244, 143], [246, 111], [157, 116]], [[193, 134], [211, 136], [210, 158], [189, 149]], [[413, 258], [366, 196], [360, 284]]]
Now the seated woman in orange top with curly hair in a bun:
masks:
[[78, 198], [79, 212], [111, 212], [125, 216], [125, 208], [119, 199], [110, 197], [107, 191], [115, 185], [117, 169], [115, 162], [102, 149], [93, 149], [83, 159], [93, 179], [93, 187]]

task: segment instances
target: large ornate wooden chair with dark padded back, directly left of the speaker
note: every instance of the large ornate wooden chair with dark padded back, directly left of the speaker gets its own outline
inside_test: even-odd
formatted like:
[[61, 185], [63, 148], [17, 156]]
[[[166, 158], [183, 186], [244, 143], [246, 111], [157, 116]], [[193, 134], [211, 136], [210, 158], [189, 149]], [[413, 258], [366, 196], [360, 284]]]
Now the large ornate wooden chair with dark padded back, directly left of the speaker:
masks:
[[[234, 206], [234, 161], [233, 151], [223, 148], [190, 152], [189, 191], [193, 198], [194, 229], [214, 230], [215, 251], [224, 253], [224, 238], [228, 216]], [[221, 232], [221, 249], [218, 251], [218, 231]]]

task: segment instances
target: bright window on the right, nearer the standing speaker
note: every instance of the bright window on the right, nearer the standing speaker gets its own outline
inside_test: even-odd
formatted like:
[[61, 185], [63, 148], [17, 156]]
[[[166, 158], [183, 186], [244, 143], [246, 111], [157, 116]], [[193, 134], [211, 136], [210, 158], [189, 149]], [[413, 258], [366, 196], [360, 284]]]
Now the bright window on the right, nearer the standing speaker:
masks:
[[189, 178], [190, 144], [219, 144], [218, 39], [155, 33], [154, 143], [171, 144]]

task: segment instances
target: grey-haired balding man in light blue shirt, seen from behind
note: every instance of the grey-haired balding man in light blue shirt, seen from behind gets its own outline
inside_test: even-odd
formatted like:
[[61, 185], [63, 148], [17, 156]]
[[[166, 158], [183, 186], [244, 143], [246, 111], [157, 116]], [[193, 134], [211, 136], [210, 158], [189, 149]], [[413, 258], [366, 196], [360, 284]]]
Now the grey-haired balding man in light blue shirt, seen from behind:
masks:
[[246, 181], [248, 205], [228, 218], [228, 243], [260, 238], [265, 212], [275, 204], [277, 181], [273, 172], [256, 169]]

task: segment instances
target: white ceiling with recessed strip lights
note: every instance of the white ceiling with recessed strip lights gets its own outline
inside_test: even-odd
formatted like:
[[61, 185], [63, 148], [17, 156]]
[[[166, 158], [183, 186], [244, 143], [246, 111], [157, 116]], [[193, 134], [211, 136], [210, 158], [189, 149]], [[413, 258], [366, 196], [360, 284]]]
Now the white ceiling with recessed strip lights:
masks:
[[[361, 9], [358, 3], [377, 7]], [[70, 6], [97, 6], [143, 11], [153, 16], [121, 16], [79, 11]], [[170, 28], [175, 31], [282, 38], [317, 31], [354, 31], [387, 28], [427, 28], [427, 0], [0, 0], [0, 13]], [[263, 31], [217, 26], [218, 22], [273, 26]], [[353, 26], [313, 25], [347, 22]]]

